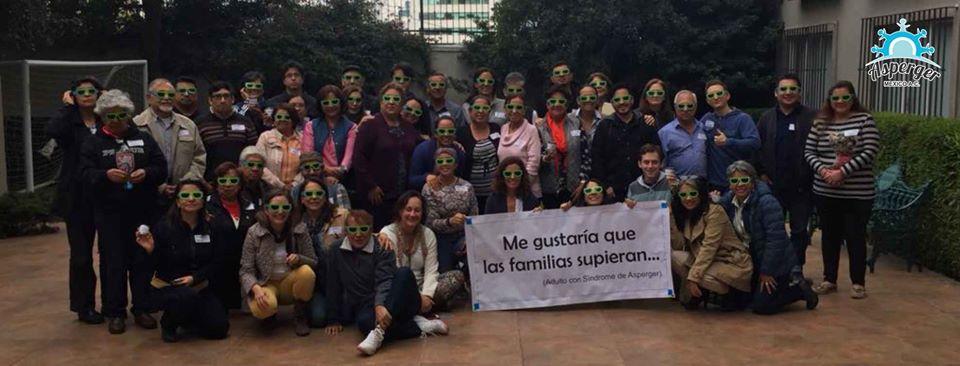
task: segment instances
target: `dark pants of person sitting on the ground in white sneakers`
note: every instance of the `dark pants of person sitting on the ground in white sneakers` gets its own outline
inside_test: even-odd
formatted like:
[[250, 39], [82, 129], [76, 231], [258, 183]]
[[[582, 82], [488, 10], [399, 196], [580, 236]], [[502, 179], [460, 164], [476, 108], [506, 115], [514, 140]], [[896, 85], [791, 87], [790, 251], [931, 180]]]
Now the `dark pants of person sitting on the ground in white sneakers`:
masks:
[[[387, 301], [383, 304], [393, 322], [385, 329], [385, 340], [399, 340], [419, 337], [422, 331], [413, 317], [420, 312], [420, 292], [417, 290], [417, 279], [409, 267], [400, 267], [393, 276], [393, 284]], [[357, 327], [364, 337], [377, 327], [377, 315], [374, 304], [362, 307], [357, 313]]]

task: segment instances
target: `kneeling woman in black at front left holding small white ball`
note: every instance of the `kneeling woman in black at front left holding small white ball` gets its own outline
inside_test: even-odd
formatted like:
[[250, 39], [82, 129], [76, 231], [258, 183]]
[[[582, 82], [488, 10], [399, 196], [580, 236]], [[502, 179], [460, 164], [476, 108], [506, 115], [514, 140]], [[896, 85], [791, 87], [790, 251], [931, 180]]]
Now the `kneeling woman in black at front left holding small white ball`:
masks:
[[208, 286], [222, 258], [222, 243], [210, 235], [203, 216], [202, 187], [199, 181], [181, 181], [176, 206], [152, 233], [136, 233], [137, 244], [156, 261], [150, 284], [157, 306], [163, 310], [160, 334], [164, 342], [178, 341], [181, 327], [210, 339], [225, 338], [230, 329], [227, 310]]

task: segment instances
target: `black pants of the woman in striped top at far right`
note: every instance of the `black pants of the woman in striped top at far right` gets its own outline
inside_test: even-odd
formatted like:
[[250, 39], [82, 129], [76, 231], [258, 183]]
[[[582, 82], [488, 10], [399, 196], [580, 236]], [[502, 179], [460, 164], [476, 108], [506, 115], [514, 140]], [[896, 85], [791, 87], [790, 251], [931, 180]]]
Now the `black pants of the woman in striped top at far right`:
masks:
[[815, 195], [823, 251], [823, 279], [837, 283], [840, 246], [847, 244], [850, 280], [854, 285], [866, 282], [867, 221], [873, 200], [839, 199]]

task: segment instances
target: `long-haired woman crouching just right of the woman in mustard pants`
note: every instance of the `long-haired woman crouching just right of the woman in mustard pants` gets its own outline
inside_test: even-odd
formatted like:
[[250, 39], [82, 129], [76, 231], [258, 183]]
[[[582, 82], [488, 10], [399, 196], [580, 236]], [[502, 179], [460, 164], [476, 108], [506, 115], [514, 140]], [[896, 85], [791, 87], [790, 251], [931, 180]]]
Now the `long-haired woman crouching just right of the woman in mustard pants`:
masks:
[[[317, 265], [314, 273], [326, 273], [325, 258], [330, 248], [339, 243], [346, 234], [344, 226], [347, 214], [350, 212], [327, 200], [327, 190], [322, 181], [307, 178], [307, 181], [297, 186], [297, 215], [307, 225], [307, 232], [313, 243], [313, 251], [317, 255]], [[307, 304], [307, 321], [312, 328], [323, 327], [327, 317], [327, 303], [323, 281], [316, 281], [313, 297]]]

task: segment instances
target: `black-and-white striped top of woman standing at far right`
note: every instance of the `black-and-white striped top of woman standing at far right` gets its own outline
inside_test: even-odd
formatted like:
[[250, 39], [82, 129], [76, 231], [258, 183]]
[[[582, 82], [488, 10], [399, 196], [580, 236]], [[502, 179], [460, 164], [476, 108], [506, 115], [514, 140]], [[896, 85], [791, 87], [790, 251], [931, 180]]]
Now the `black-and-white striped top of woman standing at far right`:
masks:
[[[831, 143], [831, 138], [837, 136], [856, 137], [856, 146], [850, 160], [840, 166], [835, 164], [837, 153]], [[841, 185], [831, 186], [816, 173], [813, 192], [832, 198], [873, 199], [876, 194], [873, 161], [879, 151], [880, 132], [869, 113], [853, 113], [843, 121], [814, 121], [814, 127], [807, 135], [804, 158], [814, 172], [819, 172], [822, 168], [840, 168], [844, 179]]]

